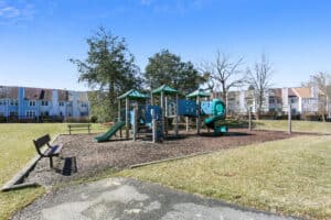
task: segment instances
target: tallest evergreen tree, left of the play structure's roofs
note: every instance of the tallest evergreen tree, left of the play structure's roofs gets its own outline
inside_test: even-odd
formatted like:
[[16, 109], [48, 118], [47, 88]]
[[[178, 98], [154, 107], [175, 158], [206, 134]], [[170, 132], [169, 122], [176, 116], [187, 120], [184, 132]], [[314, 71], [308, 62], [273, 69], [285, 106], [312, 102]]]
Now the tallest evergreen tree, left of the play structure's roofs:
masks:
[[117, 96], [141, 85], [140, 72], [125, 38], [113, 35], [104, 28], [87, 38], [87, 58], [70, 59], [77, 66], [78, 81], [87, 82], [92, 116], [98, 121], [114, 120], [117, 116]]

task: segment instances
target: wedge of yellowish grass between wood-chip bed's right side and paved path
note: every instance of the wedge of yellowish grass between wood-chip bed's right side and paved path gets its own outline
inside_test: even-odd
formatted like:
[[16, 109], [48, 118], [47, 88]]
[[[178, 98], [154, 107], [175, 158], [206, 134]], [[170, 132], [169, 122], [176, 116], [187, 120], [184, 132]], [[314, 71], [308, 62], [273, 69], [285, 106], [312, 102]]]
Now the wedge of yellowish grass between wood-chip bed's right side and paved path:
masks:
[[331, 136], [299, 136], [119, 175], [261, 210], [330, 219], [330, 142]]

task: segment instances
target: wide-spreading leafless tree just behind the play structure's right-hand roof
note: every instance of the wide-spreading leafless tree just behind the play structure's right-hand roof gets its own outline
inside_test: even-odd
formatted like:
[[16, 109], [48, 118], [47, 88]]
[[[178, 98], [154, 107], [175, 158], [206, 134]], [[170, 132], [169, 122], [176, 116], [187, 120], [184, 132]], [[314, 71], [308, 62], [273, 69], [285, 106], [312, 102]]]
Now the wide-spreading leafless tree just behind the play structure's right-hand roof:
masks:
[[227, 92], [233, 87], [244, 85], [243, 72], [239, 69], [243, 64], [243, 57], [236, 62], [231, 62], [228, 56], [216, 53], [215, 62], [202, 64], [202, 72], [209, 77], [207, 87], [210, 89], [221, 87], [222, 99], [227, 103]]

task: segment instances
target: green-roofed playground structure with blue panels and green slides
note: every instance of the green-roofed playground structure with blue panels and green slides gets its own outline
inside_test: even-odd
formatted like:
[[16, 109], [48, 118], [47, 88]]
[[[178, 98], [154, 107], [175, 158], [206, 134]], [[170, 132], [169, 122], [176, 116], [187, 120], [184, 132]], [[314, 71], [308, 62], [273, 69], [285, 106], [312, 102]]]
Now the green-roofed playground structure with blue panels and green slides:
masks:
[[[202, 100], [203, 98], [207, 100]], [[125, 138], [134, 141], [137, 135], [152, 134], [153, 142], [162, 141], [169, 134], [169, 121], [174, 123], [174, 135], [179, 135], [180, 117], [185, 117], [186, 131], [189, 131], [190, 119], [196, 119], [196, 133], [200, 134], [202, 118], [207, 129], [214, 131], [214, 135], [227, 132], [225, 125], [218, 121], [224, 120], [225, 105], [220, 99], [209, 100], [210, 94], [201, 89], [186, 96], [186, 99], [179, 99], [178, 90], [162, 85], [152, 90], [151, 96], [147, 96], [137, 90], [129, 90], [118, 97], [118, 120], [103, 135], [96, 136], [95, 141], [106, 142], [119, 131], [122, 136], [125, 128]], [[193, 100], [192, 100], [193, 99]], [[121, 109], [121, 102], [125, 100], [125, 110]]]

